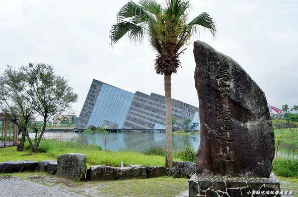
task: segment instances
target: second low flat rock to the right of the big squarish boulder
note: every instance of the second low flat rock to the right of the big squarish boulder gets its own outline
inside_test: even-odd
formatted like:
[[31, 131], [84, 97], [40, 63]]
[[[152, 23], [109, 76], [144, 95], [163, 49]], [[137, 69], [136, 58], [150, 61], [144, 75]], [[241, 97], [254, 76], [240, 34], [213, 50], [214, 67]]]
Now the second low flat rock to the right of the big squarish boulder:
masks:
[[116, 168], [116, 179], [146, 179], [147, 173], [145, 167], [124, 167]]

